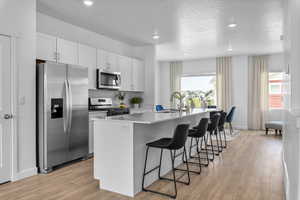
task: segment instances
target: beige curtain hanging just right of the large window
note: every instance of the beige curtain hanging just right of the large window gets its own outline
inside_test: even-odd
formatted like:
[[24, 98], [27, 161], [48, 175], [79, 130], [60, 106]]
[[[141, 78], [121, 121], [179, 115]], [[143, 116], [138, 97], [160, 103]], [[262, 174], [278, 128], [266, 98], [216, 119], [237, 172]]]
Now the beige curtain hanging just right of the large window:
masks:
[[216, 59], [217, 71], [217, 104], [228, 111], [232, 106], [232, 58], [220, 57]]

